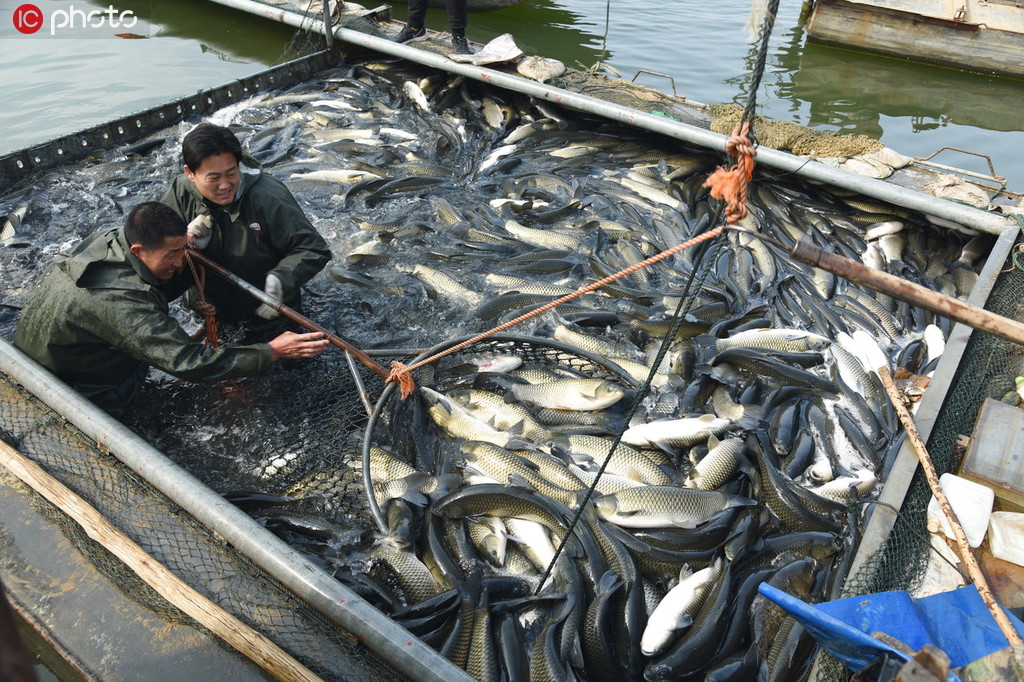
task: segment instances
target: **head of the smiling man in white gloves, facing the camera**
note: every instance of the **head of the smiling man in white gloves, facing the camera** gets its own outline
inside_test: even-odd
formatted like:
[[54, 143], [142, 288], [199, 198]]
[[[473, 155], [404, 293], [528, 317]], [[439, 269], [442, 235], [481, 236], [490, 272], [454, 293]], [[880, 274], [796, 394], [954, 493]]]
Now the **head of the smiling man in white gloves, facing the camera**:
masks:
[[225, 206], [239, 188], [242, 144], [229, 129], [201, 123], [181, 142], [185, 176], [205, 199]]

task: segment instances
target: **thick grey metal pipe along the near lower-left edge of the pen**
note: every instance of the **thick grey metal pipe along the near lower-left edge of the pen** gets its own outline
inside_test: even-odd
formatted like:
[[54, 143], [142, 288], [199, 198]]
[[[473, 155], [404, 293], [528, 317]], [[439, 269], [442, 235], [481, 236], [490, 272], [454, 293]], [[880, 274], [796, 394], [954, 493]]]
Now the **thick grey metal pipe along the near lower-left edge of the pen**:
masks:
[[102, 445], [169, 500], [413, 680], [470, 682], [451, 660], [390, 620], [105, 412], [0, 339], [0, 372]]

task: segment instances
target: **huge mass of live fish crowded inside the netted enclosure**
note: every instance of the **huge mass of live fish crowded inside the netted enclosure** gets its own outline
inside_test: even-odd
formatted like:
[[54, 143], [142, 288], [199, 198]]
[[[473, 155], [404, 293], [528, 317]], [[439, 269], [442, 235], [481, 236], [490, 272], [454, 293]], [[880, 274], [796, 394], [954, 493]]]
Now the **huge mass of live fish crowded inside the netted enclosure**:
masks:
[[[357, 345], [489, 329], [720, 220], [707, 151], [408, 69], [215, 117], [332, 245], [306, 312]], [[168, 139], [134, 178], [166, 186]], [[102, 166], [83, 191], [120, 206]], [[513, 329], [542, 358], [511, 344], [418, 373], [366, 453], [386, 527], [289, 537], [477, 679], [798, 679], [813, 642], [757, 586], [839, 594], [902, 435], [865, 358], [927, 375], [949, 328], [758, 236], [961, 297], [989, 243], [792, 177], [760, 173], [749, 197], [745, 232]]]

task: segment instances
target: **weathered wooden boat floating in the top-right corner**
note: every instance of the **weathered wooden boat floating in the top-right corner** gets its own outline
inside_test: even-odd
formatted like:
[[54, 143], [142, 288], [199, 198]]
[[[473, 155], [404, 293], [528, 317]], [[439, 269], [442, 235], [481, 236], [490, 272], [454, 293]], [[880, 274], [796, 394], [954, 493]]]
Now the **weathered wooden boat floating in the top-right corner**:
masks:
[[1024, 78], [1024, 6], [1015, 0], [816, 0], [810, 40]]

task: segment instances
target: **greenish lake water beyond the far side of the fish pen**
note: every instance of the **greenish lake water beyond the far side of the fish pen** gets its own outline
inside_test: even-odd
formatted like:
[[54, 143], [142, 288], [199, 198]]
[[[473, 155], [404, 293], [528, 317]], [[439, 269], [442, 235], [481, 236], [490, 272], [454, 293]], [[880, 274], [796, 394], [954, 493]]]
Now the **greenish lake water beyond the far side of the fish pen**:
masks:
[[[20, 36], [22, 0], [0, 0], [0, 154], [31, 146], [296, 56], [294, 32], [200, 0], [122, 0], [118, 10], [146, 17], [152, 37]], [[46, 13], [68, 2], [37, 0]], [[97, 2], [80, 8], [105, 9]], [[991, 159], [1011, 189], [1024, 190], [1024, 81], [996, 79], [900, 59], [808, 45], [799, 3], [782, 3], [768, 71], [758, 93], [768, 117], [825, 130], [864, 133], [894, 150], [926, 157], [943, 146]], [[754, 44], [743, 31], [750, 5], [680, 0], [522, 0], [471, 14], [467, 34], [486, 42], [512, 33], [527, 54], [569, 66], [602, 60], [631, 79], [706, 102], [744, 103]], [[394, 16], [406, 17], [403, 5]], [[606, 24], [607, 19], [607, 24]], [[445, 30], [443, 10], [427, 25]], [[113, 32], [108, 32], [108, 34]], [[137, 31], [136, 31], [137, 33]], [[58, 34], [59, 35], [59, 34]], [[943, 152], [936, 162], [988, 172], [980, 157]]]

